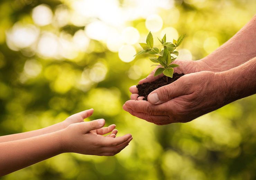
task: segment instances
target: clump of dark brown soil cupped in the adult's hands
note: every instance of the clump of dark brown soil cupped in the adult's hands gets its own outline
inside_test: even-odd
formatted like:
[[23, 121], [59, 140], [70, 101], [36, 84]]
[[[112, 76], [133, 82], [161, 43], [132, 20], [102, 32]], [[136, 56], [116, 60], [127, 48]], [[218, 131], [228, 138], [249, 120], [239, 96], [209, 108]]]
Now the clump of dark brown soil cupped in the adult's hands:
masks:
[[172, 82], [176, 81], [177, 79], [179, 79], [180, 77], [182, 77], [184, 74], [178, 74], [178, 73], [174, 73], [173, 74], [173, 78], [168, 77], [168, 82], [166, 82], [166, 76], [163, 76], [153, 82], [144, 82], [142, 84], [138, 84], [136, 87], [138, 88], [139, 91], [139, 96], [144, 96], [145, 98], [143, 98], [143, 100], [148, 100], [148, 94], [150, 94], [150, 92], [154, 91], [157, 88], [160, 88], [162, 86], [165, 86], [167, 84], [171, 84]]

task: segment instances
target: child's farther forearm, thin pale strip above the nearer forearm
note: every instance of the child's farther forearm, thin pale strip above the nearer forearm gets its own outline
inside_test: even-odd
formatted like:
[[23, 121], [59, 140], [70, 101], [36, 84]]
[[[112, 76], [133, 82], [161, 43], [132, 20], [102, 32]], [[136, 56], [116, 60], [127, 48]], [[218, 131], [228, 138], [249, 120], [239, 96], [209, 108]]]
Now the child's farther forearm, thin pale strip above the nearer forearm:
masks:
[[17, 133], [17, 134], [10, 134], [10, 135], [6, 135], [6, 136], [1, 136], [0, 137], [0, 143], [1, 142], [8, 142], [8, 141], [15, 141], [15, 140], [19, 140], [19, 139], [25, 139], [25, 138], [31, 138], [31, 137], [35, 137], [35, 136], [40, 136], [43, 134], [47, 134], [47, 133], [51, 133], [51, 132], [55, 132], [61, 129], [64, 129], [65, 125], [63, 122], [57, 123], [57, 124], [53, 124], [52, 126], [48, 126], [46, 128], [42, 128], [42, 129], [37, 129], [34, 131], [28, 131], [28, 132], [22, 132], [22, 133]]

